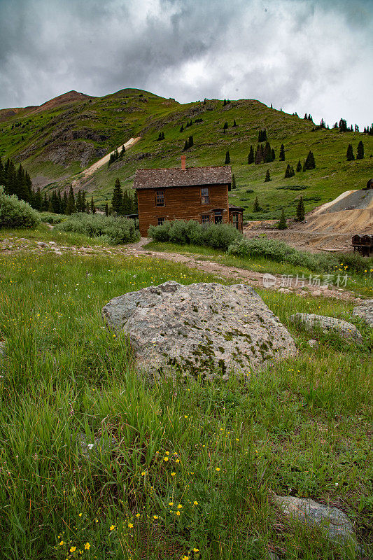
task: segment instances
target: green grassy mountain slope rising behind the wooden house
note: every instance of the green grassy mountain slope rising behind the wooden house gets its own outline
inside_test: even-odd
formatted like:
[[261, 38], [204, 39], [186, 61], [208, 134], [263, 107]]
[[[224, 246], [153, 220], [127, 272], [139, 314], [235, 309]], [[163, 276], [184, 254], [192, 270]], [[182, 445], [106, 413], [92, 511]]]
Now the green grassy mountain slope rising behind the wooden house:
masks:
[[[248, 165], [250, 146], [257, 148], [262, 130], [266, 130], [275, 159]], [[373, 136], [318, 128], [310, 120], [253, 99], [179, 104], [135, 89], [104, 97], [68, 92], [41, 106], [1, 110], [0, 132], [1, 158], [22, 162], [34, 186], [66, 189], [78, 180], [74, 183], [77, 188], [92, 193], [99, 207], [111, 199], [116, 177], [130, 188], [137, 168], [180, 165], [190, 136], [193, 145], [186, 151], [188, 166], [224, 165], [229, 151], [237, 185], [230, 200], [246, 209], [246, 218], [277, 218], [282, 208], [286, 216], [294, 216], [300, 195], [309, 211], [345, 190], [363, 188], [373, 175]], [[158, 139], [163, 134], [164, 139]], [[132, 137], [141, 139], [122, 159], [104, 165], [92, 176], [81, 174]], [[346, 161], [349, 144], [356, 156], [360, 140], [365, 157]], [[281, 144], [285, 161], [279, 161]], [[265, 141], [261, 145], [264, 148]], [[296, 172], [298, 161], [303, 166], [309, 151], [316, 168]], [[295, 175], [285, 179], [288, 165]], [[265, 182], [267, 169], [270, 181]], [[253, 213], [256, 197], [262, 211]]]

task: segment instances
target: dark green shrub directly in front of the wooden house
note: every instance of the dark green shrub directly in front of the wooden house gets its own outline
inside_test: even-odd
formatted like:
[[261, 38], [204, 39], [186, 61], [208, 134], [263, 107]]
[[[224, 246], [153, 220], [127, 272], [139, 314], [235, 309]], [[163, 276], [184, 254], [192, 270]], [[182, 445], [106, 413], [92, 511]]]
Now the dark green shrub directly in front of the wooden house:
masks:
[[154, 241], [178, 243], [181, 245], [204, 245], [227, 251], [230, 244], [243, 236], [232, 225], [199, 224], [196, 221], [175, 220], [162, 225], [150, 225], [148, 236]]

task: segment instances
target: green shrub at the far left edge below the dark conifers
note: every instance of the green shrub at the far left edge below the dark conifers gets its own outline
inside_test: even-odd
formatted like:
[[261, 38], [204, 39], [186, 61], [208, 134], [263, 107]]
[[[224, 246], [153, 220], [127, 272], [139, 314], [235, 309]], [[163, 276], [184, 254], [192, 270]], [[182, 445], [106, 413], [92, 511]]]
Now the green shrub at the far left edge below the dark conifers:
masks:
[[39, 223], [36, 210], [15, 195], [6, 195], [0, 186], [0, 228], [35, 228]]

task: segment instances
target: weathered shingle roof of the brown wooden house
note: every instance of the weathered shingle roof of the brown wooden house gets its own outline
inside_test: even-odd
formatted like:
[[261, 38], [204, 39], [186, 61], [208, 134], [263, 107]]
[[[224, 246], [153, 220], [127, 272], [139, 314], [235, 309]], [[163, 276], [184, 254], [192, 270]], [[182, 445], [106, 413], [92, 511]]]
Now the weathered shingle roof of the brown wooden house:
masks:
[[137, 169], [134, 188], [188, 187], [232, 183], [230, 165], [220, 167], [171, 167], [171, 169]]

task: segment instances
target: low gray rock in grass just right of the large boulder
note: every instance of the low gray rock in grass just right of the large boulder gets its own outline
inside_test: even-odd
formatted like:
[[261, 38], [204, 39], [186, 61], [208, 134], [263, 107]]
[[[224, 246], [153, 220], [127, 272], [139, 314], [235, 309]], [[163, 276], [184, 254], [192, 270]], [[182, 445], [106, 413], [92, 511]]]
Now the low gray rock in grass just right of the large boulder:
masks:
[[363, 342], [363, 337], [355, 325], [335, 317], [325, 317], [323, 315], [315, 315], [314, 313], [296, 313], [290, 316], [290, 321], [304, 326], [306, 330], [312, 330], [316, 327], [320, 328], [323, 332], [335, 332], [349, 342], [356, 342], [358, 344]]

